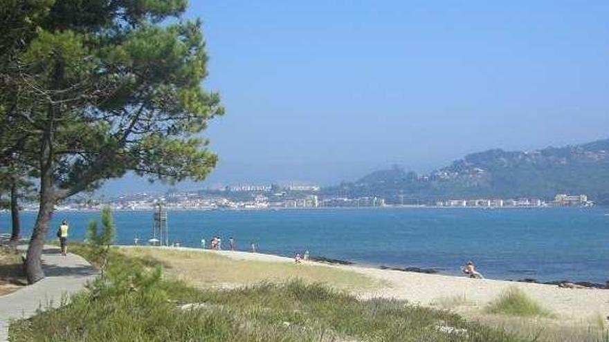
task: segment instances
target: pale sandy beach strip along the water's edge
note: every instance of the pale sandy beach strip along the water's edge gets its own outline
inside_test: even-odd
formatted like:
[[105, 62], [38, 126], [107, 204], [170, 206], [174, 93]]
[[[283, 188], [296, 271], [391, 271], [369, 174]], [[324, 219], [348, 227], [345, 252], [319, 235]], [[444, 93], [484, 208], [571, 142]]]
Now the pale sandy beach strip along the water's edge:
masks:
[[[180, 247], [185, 250], [198, 250]], [[205, 251], [218, 253], [238, 260], [258, 260], [271, 263], [293, 263], [293, 259], [269, 254], [243, 251]], [[538, 303], [552, 310], [564, 321], [585, 321], [599, 314], [609, 316], [609, 290], [563, 289], [556, 285], [518, 283], [492, 279], [472, 279], [441, 274], [421, 274], [387, 269], [374, 269], [357, 265], [328, 265], [325, 263], [302, 263], [302, 267], [325, 265], [365, 274], [379, 281], [379, 287], [358, 293], [362, 298], [384, 297], [406, 299], [420, 305], [435, 305], [446, 298], [466, 298], [469, 310], [482, 308], [496, 299], [509, 287], [519, 287]]]

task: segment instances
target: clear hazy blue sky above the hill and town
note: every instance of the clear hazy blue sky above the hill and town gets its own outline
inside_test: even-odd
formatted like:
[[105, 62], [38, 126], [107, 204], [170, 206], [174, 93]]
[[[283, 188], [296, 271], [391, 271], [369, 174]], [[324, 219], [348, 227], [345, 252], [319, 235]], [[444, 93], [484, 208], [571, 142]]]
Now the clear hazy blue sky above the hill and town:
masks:
[[226, 106], [203, 186], [609, 137], [606, 0], [190, 2]]

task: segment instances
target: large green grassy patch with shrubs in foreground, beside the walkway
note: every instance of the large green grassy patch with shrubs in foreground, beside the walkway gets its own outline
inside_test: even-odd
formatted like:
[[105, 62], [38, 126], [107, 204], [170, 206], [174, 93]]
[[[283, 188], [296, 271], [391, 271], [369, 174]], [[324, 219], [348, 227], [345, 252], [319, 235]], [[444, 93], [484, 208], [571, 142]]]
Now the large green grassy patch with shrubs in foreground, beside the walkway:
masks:
[[[71, 247], [87, 258], [87, 249]], [[198, 289], [112, 250], [105, 278], [10, 325], [10, 341], [522, 341], [450, 312], [319, 283]]]

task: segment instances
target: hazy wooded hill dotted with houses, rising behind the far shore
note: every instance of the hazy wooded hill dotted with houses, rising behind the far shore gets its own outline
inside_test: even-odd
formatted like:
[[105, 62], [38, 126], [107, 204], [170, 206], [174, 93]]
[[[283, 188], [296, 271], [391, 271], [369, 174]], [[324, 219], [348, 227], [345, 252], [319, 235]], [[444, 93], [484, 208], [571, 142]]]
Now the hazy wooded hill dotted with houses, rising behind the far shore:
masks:
[[325, 189], [340, 196], [379, 196], [431, 202], [449, 198], [549, 200], [556, 193], [585, 193], [609, 205], [609, 139], [537, 151], [492, 149], [417, 175], [399, 167], [374, 171], [356, 182]]

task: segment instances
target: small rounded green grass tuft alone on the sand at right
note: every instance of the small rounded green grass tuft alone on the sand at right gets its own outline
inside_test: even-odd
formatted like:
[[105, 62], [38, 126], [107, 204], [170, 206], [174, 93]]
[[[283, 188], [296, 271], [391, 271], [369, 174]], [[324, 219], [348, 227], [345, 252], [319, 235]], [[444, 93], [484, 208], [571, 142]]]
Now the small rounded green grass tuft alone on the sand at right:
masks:
[[539, 305], [518, 287], [509, 287], [499, 298], [489, 303], [485, 311], [518, 317], [554, 317], [551, 311]]

